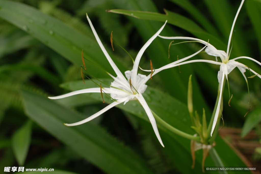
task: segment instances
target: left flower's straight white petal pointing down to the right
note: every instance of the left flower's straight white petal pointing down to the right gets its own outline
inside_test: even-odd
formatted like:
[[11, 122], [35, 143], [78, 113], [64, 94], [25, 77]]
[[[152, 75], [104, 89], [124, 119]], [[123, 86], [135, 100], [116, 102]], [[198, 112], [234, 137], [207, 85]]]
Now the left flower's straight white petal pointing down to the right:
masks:
[[143, 98], [143, 96], [141, 94], [139, 96], [136, 96], [136, 98], [139, 100], [140, 104], [145, 109], [145, 112], [147, 113], [147, 115], [148, 115], [148, 117], [150, 119], [150, 123], [151, 123], [151, 125], [153, 127], [153, 130], [154, 130], [154, 132], [156, 134], [156, 137], [158, 138], [159, 143], [161, 143], [161, 145], [164, 147], [164, 145], [162, 143], [162, 140], [161, 140], [161, 137], [159, 135], [159, 131], [158, 131], [158, 128], [157, 128], [156, 120], [153, 117], [153, 114], [151, 113], [148, 104], [146, 103], [145, 99]]

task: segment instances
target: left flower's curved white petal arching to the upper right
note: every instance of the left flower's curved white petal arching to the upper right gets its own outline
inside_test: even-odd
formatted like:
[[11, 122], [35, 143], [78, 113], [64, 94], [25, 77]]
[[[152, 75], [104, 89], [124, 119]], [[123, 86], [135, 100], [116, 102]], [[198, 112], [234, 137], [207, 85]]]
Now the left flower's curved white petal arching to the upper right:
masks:
[[140, 49], [139, 53], [137, 54], [135, 61], [134, 61], [134, 65], [133, 65], [133, 72], [132, 72], [132, 76], [134, 77], [134, 86], [136, 86], [136, 75], [137, 75], [137, 71], [138, 71], [138, 67], [139, 67], [139, 62], [140, 62], [140, 58], [143, 55], [144, 51], [146, 50], [146, 48], [151, 44], [151, 42], [159, 35], [159, 33], [161, 33], [161, 31], [163, 30], [163, 28], [165, 27], [167, 23], [164, 23], [164, 25], [157, 31], [157, 33], [155, 33], [145, 44], [144, 46]]

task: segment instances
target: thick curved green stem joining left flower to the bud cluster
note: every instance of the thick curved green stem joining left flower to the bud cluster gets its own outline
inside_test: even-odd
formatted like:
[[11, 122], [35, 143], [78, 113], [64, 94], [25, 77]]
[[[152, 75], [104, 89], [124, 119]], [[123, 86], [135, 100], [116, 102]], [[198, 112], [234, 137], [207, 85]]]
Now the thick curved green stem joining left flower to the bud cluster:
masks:
[[[151, 110], [151, 109], [150, 109]], [[193, 135], [191, 134], [188, 134], [188, 133], [185, 133], [185, 132], [182, 132], [178, 129], [176, 129], [175, 127], [172, 127], [171, 125], [169, 125], [168, 123], [166, 123], [164, 120], [162, 120], [155, 112], [153, 112], [151, 110], [155, 120], [157, 120], [158, 123], [160, 123], [162, 126], [164, 126], [165, 128], [167, 128], [168, 130], [170, 130], [171, 132], [174, 132], [176, 133], [177, 135], [181, 136], [181, 137], [184, 137], [184, 138], [187, 138], [187, 139], [190, 139], [190, 140], [195, 140], [195, 141], [198, 141], [200, 142], [200, 137], [194, 137]]]

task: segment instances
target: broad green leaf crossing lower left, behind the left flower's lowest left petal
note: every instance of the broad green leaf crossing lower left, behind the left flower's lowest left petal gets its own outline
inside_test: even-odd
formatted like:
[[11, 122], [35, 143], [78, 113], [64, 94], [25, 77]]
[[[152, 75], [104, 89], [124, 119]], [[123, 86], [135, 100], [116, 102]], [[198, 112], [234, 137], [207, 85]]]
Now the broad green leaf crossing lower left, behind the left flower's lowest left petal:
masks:
[[99, 126], [63, 125], [84, 119], [79, 114], [28, 91], [22, 91], [22, 96], [28, 117], [106, 173], [151, 173], [137, 154]]

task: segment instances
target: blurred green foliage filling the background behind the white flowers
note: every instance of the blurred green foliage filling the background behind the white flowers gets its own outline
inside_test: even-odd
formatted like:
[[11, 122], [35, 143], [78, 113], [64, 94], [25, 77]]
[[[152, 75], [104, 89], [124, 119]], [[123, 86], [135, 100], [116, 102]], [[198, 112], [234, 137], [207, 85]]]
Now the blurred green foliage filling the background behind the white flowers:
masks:
[[[132, 60], [117, 45], [114, 46], [115, 51], [111, 50], [111, 31], [114, 40], [135, 57], [143, 44], [162, 26], [162, 22], [158, 22], [162, 20], [137, 19], [105, 10], [164, 14], [165, 8], [172, 14], [169, 16], [172, 22], [169, 21], [161, 35], [210, 39], [217, 49], [225, 50], [239, 3], [227, 0], [0, 0], [0, 173], [4, 167], [19, 165], [75, 173], [202, 172], [202, 152], [196, 152], [195, 168], [191, 169], [190, 141], [159, 124], [165, 145], [162, 148], [137, 102], [119, 105], [120, 109], [112, 108], [90, 123], [69, 128], [62, 123], [89, 117], [109, 104], [110, 99], [103, 104], [98, 94], [81, 94], [58, 101], [50, 101], [47, 96], [93, 86], [90, 81], [86, 85], [78, 81], [81, 79], [82, 49], [86, 58], [114, 74], [92, 34], [86, 12], [106, 50], [124, 72], [132, 68]], [[260, 14], [260, 1], [245, 2], [236, 22], [231, 57], [250, 56], [260, 61]], [[152, 60], [153, 67], [159, 68], [175, 61], [177, 55], [183, 58], [202, 48], [197, 43], [178, 44], [170, 48], [168, 59], [168, 46], [168, 40], [156, 38], [145, 51], [140, 67], [150, 69], [149, 60]], [[215, 60], [215, 57], [201, 53], [192, 59]], [[261, 73], [260, 67], [254, 63], [247, 60], [242, 63]], [[92, 63], [86, 65], [95, 77], [109, 78]], [[194, 63], [181, 66], [181, 73], [178, 67], [162, 71], [147, 83], [145, 99], [163, 120], [194, 134], [186, 106], [189, 75], [193, 74], [194, 110], [202, 115], [202, 108], [205, 108], [208, 123], [216, 101], [218, 70], [215, 65]], [[142, 71], [139, 73], [144, 74]], [[248, 72], [246, 75], [250, 76]], [[110, 82], [112, 79], [107, 80]], [[229, 107], [228, 89], [225, 88], [223, 118], [225, 126], [241, 128], [248, 110], [247, 86], [239, 71], [230, 73], [229, 80], [233, 99]], [[248, 82], [251, 112], [253, 110], [248, 115], [259, 117], [261, 81], [256, 77], [248, 79]], [[34, 122], [31, 138], [28, 137], [29, 128], [25, 130], [27, 116]], [[248, 121], [248, 125], [244, 127], [247, 131], [257, 124]], [[17, 142], [17, 136], [25, 141]], [[26, 145], [29, 139], [31, 144]], [[245, 165], [219, 136], [216, 144], [215, 149], [225, 166]], [[21, 153], [21, 149], [26, 152], [26, 148], [29, 148], [28, 153]], [[207, 157], [205, 165], [214, 166], [215, 161]]]

